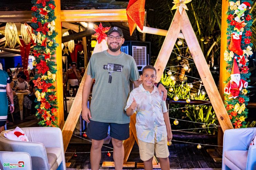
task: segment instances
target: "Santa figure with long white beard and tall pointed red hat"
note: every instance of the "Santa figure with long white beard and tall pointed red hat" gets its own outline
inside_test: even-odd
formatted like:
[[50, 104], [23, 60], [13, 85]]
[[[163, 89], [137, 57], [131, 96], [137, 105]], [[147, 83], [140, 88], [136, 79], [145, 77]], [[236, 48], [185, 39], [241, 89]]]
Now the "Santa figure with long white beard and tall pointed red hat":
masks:
[[228, 94], [228, 99], [237, 98], [242, 88], [247, 88], [248, 82], [240, 79], [240, 71], [236, 63], [236, 59], [233, 62], [233, 68], [231, 72], [231, 80], [224, 88], [224, 93]]

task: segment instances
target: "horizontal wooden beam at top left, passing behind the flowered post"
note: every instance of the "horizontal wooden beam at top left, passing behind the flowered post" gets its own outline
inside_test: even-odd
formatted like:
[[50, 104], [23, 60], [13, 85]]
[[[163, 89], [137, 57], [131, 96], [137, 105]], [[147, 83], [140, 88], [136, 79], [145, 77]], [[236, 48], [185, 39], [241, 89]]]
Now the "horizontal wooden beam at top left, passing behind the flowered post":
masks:
[[[32, 11], [0, 11], [0, 22], [31, 22]], [[62, 22], [126, 22], [126, 9], [61, 10]]]

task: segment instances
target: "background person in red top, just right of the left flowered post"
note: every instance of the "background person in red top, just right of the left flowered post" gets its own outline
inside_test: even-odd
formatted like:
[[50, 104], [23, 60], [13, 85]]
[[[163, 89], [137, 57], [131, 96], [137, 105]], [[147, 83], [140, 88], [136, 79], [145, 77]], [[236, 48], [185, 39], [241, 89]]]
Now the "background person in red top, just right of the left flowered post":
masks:
[[70, 88], [79, 88], [80, 72], [76, 69], [77, 64], [75, 62], [71, 63], [71, 66], [72, 69], [68, 69], [64, 80], [64, 87], [67, 83], [67, 90]]

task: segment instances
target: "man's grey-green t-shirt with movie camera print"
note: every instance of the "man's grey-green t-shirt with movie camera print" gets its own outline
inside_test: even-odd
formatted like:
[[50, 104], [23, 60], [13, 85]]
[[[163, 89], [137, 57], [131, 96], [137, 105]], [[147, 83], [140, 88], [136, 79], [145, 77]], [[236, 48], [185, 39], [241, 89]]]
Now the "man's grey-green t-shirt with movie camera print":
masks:
[[139, 72], [132, 56], [121, 52], [113, 56], [103, 51], [91, 56], [87, 75], [95, 79], [90, 105], [91, 120], [125, 124], [130, 117], [125, 113], [130, 93], [130, 81], [139, 79]]

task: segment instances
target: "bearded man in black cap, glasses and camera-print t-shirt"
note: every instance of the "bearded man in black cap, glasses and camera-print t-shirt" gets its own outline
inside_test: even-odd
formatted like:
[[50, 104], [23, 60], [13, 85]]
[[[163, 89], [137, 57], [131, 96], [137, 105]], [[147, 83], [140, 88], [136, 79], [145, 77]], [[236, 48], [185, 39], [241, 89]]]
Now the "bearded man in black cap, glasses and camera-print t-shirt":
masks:
[[[107, 137], [108, 126], [114, 147], [115, 169], [121, 170], [124, 162], [123, 140], [129, 138], [130, 118], [124, 108], [130, 92], [129, 82], [135, 86], [141, 84], [135, 60], [120, 51], [124, 44], [122, 30], [112, 27], [106, 37], [108, 50], [92, 55], [82, 94], [82, 117], [88, 122], [87, 135], [92, 139], [91, 169], [98, 170], [101, 159], [101, 147]], [[90, 109], [87, 107], [93, 79]], [[160, 87], [160, 86], [159, 86]], [[160, 91], [166, 89], [161, 86]], [[161, 93], [160, 93], [161, 94]]]

